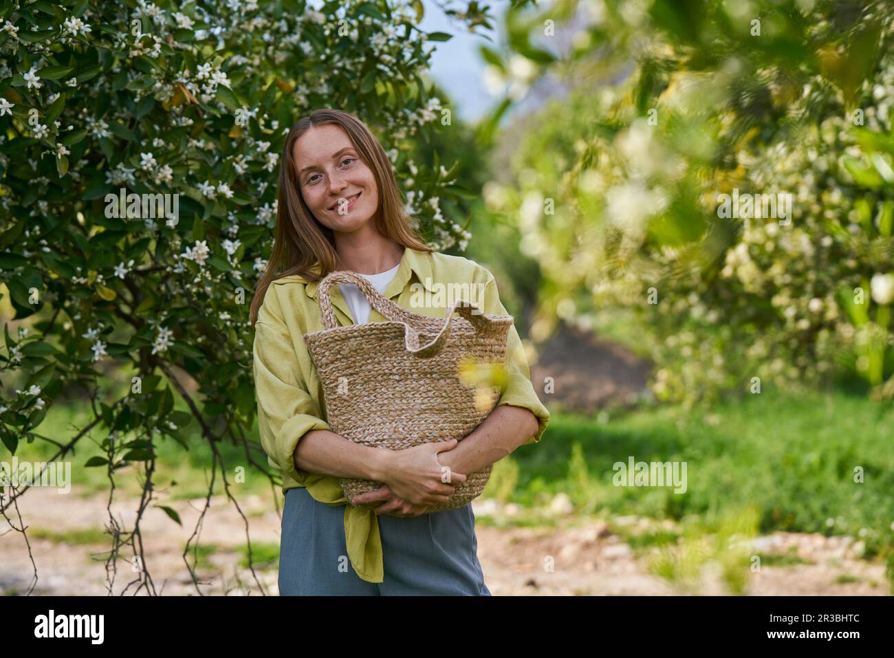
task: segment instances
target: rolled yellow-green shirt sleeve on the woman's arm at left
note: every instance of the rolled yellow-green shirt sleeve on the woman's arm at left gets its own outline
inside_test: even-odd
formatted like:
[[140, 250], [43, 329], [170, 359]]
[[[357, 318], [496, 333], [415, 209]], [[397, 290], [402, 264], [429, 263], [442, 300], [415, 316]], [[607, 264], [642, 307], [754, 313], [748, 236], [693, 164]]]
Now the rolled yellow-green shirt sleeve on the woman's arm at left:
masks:
[[257, 392], [257, 425], [267, 461], [299, 485], [311, 476], [296, 468], [293, 453], [304, 434], [332, 427], [308, 393], [299, 367], [298, 353], [307, 353], [304, 340], [293, 340], [278, 316], [274, 292], [268, 289], [255, 324], [254, 374]]

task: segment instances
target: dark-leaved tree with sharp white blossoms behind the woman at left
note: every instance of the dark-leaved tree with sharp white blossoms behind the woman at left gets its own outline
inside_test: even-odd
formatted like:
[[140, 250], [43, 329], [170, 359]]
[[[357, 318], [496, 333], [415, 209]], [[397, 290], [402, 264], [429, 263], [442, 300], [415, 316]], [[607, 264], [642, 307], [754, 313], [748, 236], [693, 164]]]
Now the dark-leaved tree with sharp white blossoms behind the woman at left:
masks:
[[[471, 5], [448, 10], [486, 24]], [[248, 308], [291, 125], [320, 106], [358, 114], [429, 243], [464, 249], [470, 237], [438, 206], [463, 191], [451, 172], [413, 161], [426, 132], [451, 130], [421, 78], [426, 46], [449, 35], [422, 32], [421, 18], [420, 3], [397, 0], [2, 5], [0, 262], [19, 325], [4, 323], [0, 353], [6, 450], [49, 438], [55, 460], [104, 437], [105, 457], [86, 466], [112, 477], [138, 464], [140, 514], [164, 437], [186, 446], [201, 434], [211, 486], [222, 477], [234, 503], [219, 442], [277, 477], [251, 435]], [[47, 409], [72, 391], [91, 419], [44, 437]], [[4, 516], [26, 489], [0, 500]], [[142, 558], [137, 538], [139, 515], [114, 534], [110, 560], [125, 545]], [[140, 562], [139, 586], [154, 592]]]

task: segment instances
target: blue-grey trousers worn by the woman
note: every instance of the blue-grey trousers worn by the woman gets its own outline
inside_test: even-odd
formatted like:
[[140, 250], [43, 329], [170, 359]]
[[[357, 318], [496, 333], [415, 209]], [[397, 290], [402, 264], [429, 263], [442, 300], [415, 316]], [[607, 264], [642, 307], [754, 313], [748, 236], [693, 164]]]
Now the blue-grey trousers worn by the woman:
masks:
[[484, 595], [471, 504], [418, 517], [378, 516], [384, 581], [368, 583], [348, 560], [344, 506], [285, 493], [279, 590], [291, 595]]

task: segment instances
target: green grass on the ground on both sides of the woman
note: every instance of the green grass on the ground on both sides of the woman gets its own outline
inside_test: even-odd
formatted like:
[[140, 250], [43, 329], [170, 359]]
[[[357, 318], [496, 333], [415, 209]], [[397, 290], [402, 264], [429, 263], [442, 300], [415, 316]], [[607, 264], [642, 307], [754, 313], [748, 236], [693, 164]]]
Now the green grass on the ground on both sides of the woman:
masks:
[[[79, 410], [80, 409], [80, 410]], [[41, 434], [63, 441], [72, 424], [86, 419], [82, 407], [56, 406]], [[156, 440], [156, 492], [173, 499], [203, 496], [211, 451], [193, 424], [190, 450], [170, 438]], [[105, 492], [105, 467], [81, 468], [101, 454], [84, 439], [71, 457], [75, 485]], [[244, 450], [219, 444], [237, 495], [270, 493], [261, 474], [249, 468]], [[48, 458], [55, 448], [42, 442], [22, 443], [20, 460]], [[263, 453], [255, 459], [266, 463]], [[670, 487], [614, 486], [612, 466], [628, 456], [636, 461], [687, 462], [687, 491]], [[8, 454], [2, 459], [9, 460]], [[246, 482], [236, 483], [233, 469], [245, 466]], [[864, 482], [856, 483], [855, 468]], [[139, 493], [134, 467], [119, 471], [117, 486]], [[215, 493], [222, 493], [218, 474]], [[515, 517], [492, 519], [482, 525], [556, 525], [548, 504], [566, 493], [575, 506], [573, 519], [595, 514], [604, 518], [637, 515], [684, 522], [696, 519], [709, 530], [722, 515], [753, 508], [758, 529], [822, 532], [861, 538], [867, 557], [890, 554], [894, 521], [894, 408], [868, 401], [864, 395], [836, 391], [795, 395], [764, 387], [759, 395], [710, 407], [685, 410], [678, 406], [640, 407], [610, 412], [602, 422], [586, 416], [556, 413], [540, 443], [526, 445], [495, 465], [486, 497], [519, 503]], [[529, 508], [533, 508], [529, 509]], [[545, 510], [545, 512], [544, 512]], [[561, 520], [561, 519], [560, 519]], [[564, 521], [561, 521], [564, 522]], [[638, 548], [674, 542], [673, 533], [631, 538]], [[640, 545], [641, 544], [641, 545]]]

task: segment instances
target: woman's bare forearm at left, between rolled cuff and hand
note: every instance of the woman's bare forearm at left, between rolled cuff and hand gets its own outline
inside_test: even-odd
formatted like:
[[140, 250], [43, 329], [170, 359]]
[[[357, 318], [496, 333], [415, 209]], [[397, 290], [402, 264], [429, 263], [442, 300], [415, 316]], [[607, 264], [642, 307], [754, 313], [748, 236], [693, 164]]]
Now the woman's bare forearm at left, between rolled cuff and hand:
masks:
[[354, 443], [340, 434], [314, 429], [304, 434], [292, 453], [295, 468], [326, 476], [380, 480], [384, 451]]

